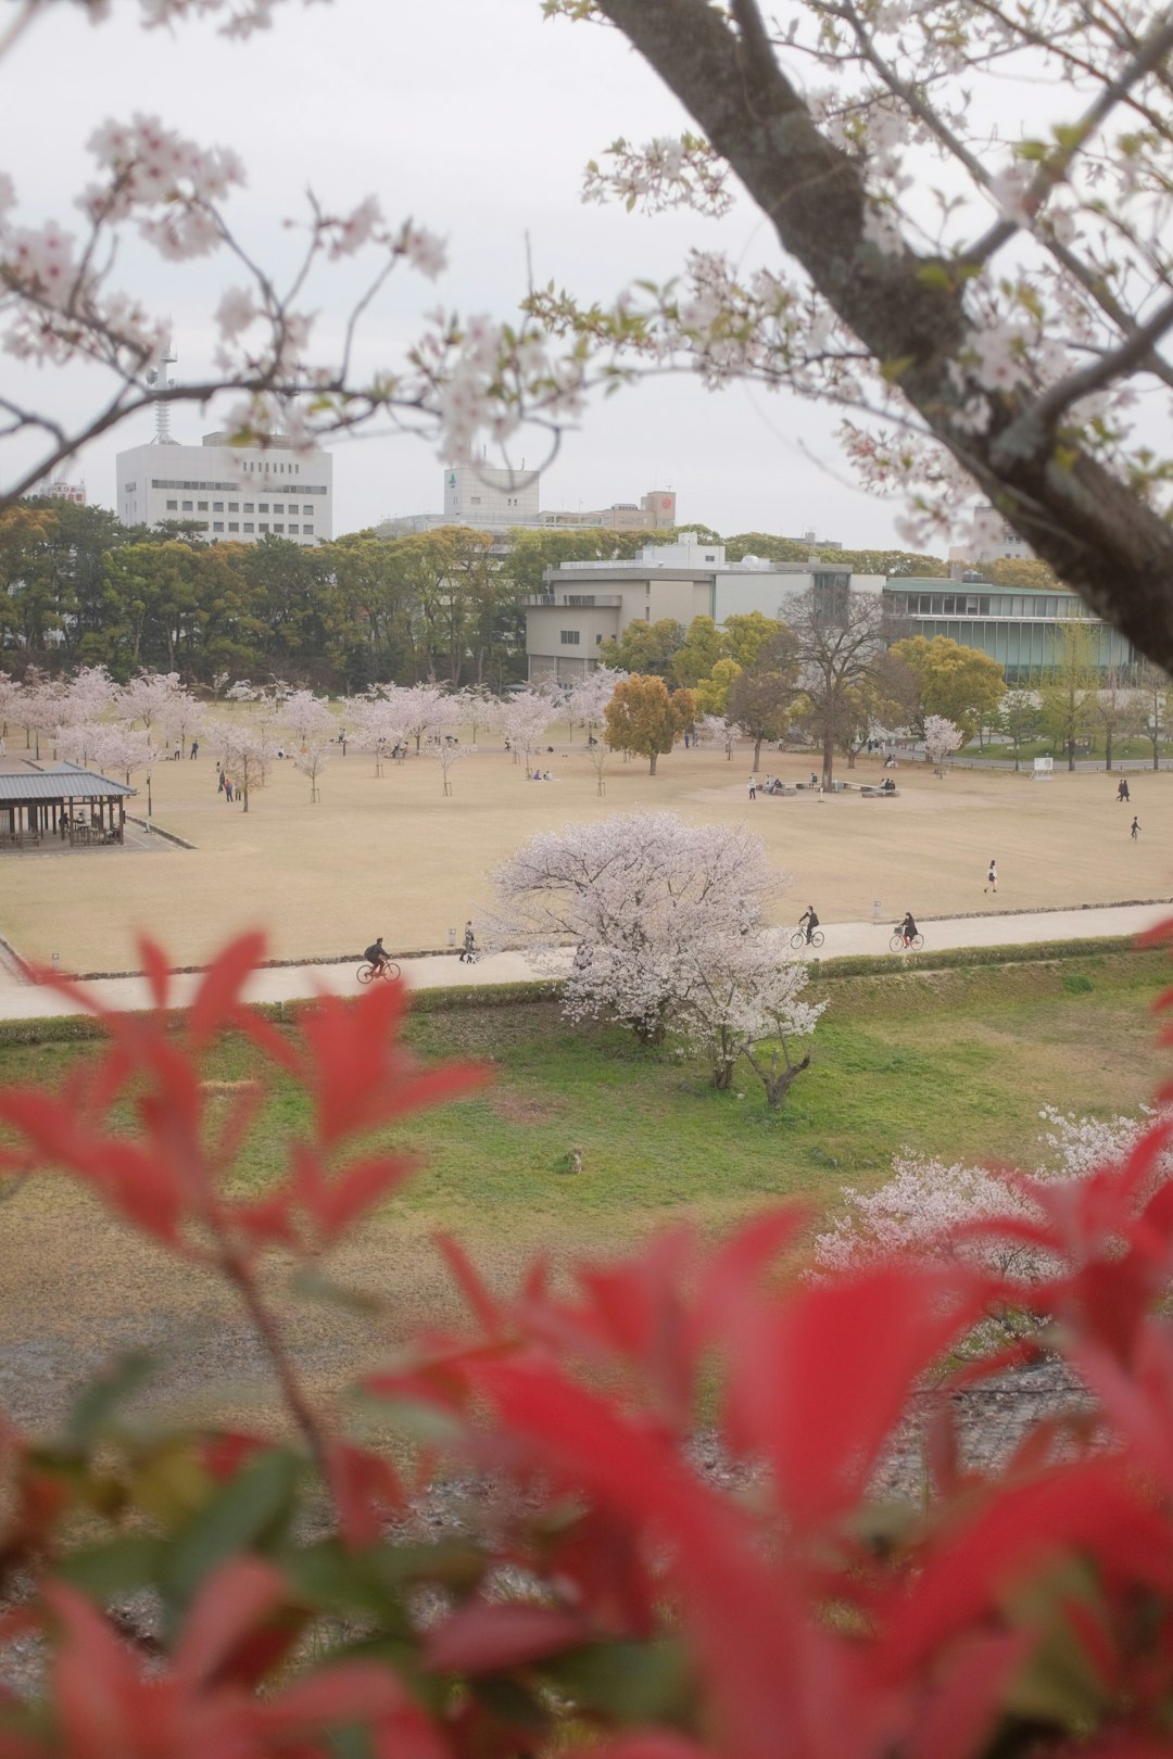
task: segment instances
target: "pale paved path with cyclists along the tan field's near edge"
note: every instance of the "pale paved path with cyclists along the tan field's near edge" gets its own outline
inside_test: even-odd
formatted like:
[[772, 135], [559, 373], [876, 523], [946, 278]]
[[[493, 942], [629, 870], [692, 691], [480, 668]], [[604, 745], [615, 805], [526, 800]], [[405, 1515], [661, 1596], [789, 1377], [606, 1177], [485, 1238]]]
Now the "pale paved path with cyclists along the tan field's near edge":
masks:
[[[1027, 946], [1032, 941], [1080, 941], [1103, 934], [1141, 934], [1166, 916], [1173, 916], [1173, 901], [1166, 904], [1097, 904], [1090, 909], [1022, 911], [1013, 916], [953, 916], [925, 920], [925, 950], [941, 952], [951, 946]], [[841, 959], [849, 953], [886, 953], [892, 923], [832, 922], [825, 925], [823, 959]], [[570, 955], [566, 955], [570, 957]], [[899, 955], [893, 955], [899, 957]], [[248, 987], [250, 1001], [299, 1001], [311, 996], [357, 994], [357, 960], [341, 966], [273, 966], [253, 973]], [[533, 966], [522, 953], [496, 953], [475, 966], [463, 966], [455, 957], [433, 953], [404, 959], [403, 971], [412, 989], [438, 989], [468, 983], [519, 983], [533, 978]], [[195, 974], [172, 978], [171, 1004], [185, 1006], [199, 982]], [[149, 1008], [142, 978], [93, 978], [86, 985], [107, 1008]], [[79, 1013], [77, 1003], [40, 985], [19, 983], [11, 974], [0, 982], [0, 1018], [37, 1020], [47, 1015]]]

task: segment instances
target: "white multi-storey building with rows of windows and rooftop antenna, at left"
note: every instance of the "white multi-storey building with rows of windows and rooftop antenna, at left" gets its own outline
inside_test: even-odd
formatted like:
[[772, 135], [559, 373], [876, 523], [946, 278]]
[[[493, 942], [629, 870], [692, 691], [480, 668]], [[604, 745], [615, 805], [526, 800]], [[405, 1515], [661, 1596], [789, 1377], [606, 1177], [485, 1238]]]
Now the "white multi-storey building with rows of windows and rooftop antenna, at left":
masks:
[[257, 544], [273, 535], [324, 544], [334, 535], [334, 461], [299, 452], [283, 436], [269, 447], [202, 445], [155, 438], [118, 454], [118, 517], [127, 526], [192, 521], [211, 544]]

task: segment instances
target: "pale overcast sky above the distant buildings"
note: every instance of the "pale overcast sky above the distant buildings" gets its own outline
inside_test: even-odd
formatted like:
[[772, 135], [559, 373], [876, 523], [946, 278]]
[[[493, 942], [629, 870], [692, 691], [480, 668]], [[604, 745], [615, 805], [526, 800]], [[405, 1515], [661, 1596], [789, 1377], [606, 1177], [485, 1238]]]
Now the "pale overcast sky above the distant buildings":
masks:
[[[742, 201], [719, 223], [640, 218], [582, 206], [582, 165], [617, 134], [679, 132], [682, 113], [623, 40], [598, 26], [543, 23], [538, 0], [334, 0], [278, 9], [273, 32], [225, 42], [211, 23], [142, 32], [134, 0], [91, 26], [53, 7], [5, 63], [5, 134], [21, 218], [70, 223], [88, 176], [84, 141], [107, 116], [162, 114], [200, 144], [237, 148], [250, 183], [229, 215], [269, 267], [292, 260], [285, 218], [306, 186], [345, 209], [373, 192], [387, 216], [448, 239], [450, 266], [431, 283], [403, 273], [364, 331], [364, 361], [394, 366], [441, 301], [461, 313], [508, 317], [535, 280], [603, 299], [635, 276], [668, 278], [689, 245], [719, 245], [744, 262], [774, 262], [770, 234]], [[120, 278], [174, 320], [178, 375], [199, 378], [213, 347], [208, 313], [232, 274], [218, 257], [179, 267], [134, 246]], [[315, 288], [329, 334], [359, 290], [346, 266]], [[9, 382], [67, 419], [100, 387], [79, 369]], [[33, 375], [28, 375], [32, 380]], [[900, 507], [863, 494], [834, 442], [837, 417], [809, 403], [689, 380], [645, 383], [603, 403], [565, 436], [542, 480], [543, 507], [608, 507], [675, 489], [679, 517], [725, 533], [763, 529], [849, 545], [893, 542]], [[176, 440], [197, 442], [215, 412], [178, 406]], [[142, 415], [95, 443], [72, 470], [91, 501], [114, 503], [114, 454], [151, 438]], [[538, 463], [536, 445], [528, 464]], [[392, 514], [441, 508], [441, 464], [410, 438], [334, 447], [336, 533]]]

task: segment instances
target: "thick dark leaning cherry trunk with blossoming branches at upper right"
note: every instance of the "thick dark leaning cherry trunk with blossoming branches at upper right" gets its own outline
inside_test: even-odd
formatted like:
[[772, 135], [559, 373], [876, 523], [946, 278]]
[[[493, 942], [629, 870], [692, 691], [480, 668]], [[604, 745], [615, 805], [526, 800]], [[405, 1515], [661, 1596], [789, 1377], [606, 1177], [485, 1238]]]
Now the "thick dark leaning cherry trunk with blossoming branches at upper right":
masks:
[[1173, 670], [1168, 461], [1133, 415], [1168, 412], [1173, 387], [1168, 9], [962, 4], [948, 26], [907, 0], [802, 0], [777, 21], [756, 0], [545, 11], [614, 25], [700, 130], [617, 141], [587, 197], [721, 215], [737, 178], [786, 259], [695, 252], [610, 310], [538, 296], [547, 324], [710, 385], [839, 401], [865, 480], [913, 484], [909, 540], [980, 491]]

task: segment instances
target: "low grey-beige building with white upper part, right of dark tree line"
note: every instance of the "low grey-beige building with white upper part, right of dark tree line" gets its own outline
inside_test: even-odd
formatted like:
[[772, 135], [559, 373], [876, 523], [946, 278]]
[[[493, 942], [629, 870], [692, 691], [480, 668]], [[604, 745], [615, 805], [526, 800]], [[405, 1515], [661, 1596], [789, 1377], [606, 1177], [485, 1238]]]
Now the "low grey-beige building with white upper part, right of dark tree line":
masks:
[[788, 605], [812, 588], [879, 593], [883, 584], [883, 575], [853, 575], [834, 563], [765, 563], [753, 556], [730, 563], [723, 544], [698, 538], [651, 545], [630, 563], [572, 561], [547, 568], [545, 591], [526, 600], [529, 679], [573, 682], [593, 672], [601, 644], [617, 640], [637, 617], [672, 617], [688, 628], [693, 617], [725, 623], [760, 610], [784, 621]]

